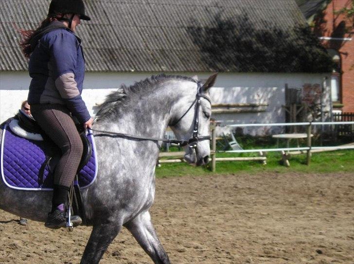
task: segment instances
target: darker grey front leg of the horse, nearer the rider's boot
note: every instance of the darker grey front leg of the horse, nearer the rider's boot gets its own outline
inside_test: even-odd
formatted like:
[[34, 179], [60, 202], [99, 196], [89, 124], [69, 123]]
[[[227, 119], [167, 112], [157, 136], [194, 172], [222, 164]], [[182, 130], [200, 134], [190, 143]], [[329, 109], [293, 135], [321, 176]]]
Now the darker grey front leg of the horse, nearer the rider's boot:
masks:
[[121, 229], [122, 225], [117, 222], [94, 225], [80, 264], [98, 264]]

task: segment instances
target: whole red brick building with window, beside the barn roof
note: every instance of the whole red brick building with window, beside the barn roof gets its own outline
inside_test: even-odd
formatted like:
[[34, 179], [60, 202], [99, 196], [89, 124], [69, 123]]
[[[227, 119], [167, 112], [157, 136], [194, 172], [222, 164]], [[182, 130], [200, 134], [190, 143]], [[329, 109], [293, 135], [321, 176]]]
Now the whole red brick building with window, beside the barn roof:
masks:
[[298, 0], [301, 11], [337, 64], [332, 75], [334, 109], [354, 112], [353, 0]]

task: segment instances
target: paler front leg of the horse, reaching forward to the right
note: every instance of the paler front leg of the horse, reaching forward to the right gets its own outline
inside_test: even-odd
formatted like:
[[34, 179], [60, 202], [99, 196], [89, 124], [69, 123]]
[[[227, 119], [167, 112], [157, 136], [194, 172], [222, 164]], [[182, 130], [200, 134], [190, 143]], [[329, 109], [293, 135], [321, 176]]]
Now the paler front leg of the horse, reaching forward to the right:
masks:
[[149, 212], [143, 212], [133, 220], [124, 224], [140, 246], [151, 257], [155, 264], [170, 264], [170, 260], [163, 249], [158, 235], [151, 223]]

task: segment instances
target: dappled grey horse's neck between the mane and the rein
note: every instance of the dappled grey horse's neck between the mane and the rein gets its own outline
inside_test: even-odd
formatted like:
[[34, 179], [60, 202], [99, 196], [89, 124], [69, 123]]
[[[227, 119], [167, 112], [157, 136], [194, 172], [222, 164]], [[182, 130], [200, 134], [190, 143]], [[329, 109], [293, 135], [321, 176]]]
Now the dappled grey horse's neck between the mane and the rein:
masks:
[[191, 82], [184, 85], [166, 82], [151, 94], [140, 99], [130, 99], [124, 109], [124, 115], [102, 125], [105, 129], [113, 129], [115, 132], [163, 137], [174, 108], [179, 107], [182, 97], [191, 93], [193, 85], [195, 84]]

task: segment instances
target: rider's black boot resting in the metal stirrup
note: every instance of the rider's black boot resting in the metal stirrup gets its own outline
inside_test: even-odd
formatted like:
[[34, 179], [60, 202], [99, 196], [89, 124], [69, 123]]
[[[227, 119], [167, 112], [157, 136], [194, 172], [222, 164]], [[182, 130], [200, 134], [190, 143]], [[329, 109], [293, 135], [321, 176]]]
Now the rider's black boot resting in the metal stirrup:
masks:
[[[44, 226], [52, 229], [66, 227], [68, 222], [68, 215], [66, 214], [68, 196], [70, 188], [66, 186], [53, 186], [52, 211], [48, 213], [47, 221]], [[81, 224], [80, 216], [72, 215], [70, 221], [74, 227]]]

